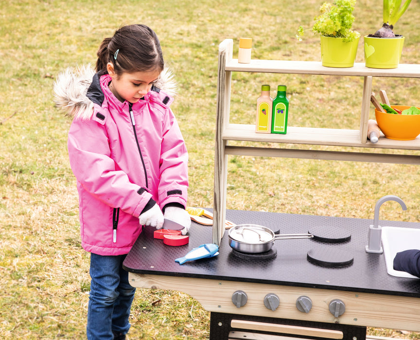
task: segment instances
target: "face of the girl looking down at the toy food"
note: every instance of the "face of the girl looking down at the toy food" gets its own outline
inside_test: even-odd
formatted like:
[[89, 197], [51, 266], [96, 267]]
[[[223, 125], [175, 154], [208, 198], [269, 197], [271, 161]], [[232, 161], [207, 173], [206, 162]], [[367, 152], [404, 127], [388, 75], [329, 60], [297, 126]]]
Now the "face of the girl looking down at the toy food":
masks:
[[150, 91], [153, 82], [157, 80], [160, 74], [159, 71], [155, 70], [150, 72], [124, 72], [119, 76], [114, 72], [111, 63], [108, 63], [107, 69], [112, 78], [109, 89], [120, 102], [138, 102]]

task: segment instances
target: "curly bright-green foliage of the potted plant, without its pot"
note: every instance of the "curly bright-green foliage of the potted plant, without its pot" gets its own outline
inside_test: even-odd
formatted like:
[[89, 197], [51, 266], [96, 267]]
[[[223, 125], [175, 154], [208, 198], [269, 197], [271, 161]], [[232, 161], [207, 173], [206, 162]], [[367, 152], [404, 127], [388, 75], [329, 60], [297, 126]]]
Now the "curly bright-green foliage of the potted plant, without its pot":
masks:
[[[314, 34], [343, 38], [345, 42], [360, 37], [360, 33], [351, 28], [354, 21], [352, 13], [355, 4], [356, 0], [335, 0], [333, 4], [324, 2], [319, 8], [321, 15], [314, 18], [315, 24], [312, 27]], [[299, 26], [296, 35], [297, 40], [302, 40], [304, 32], [303, 27]]]

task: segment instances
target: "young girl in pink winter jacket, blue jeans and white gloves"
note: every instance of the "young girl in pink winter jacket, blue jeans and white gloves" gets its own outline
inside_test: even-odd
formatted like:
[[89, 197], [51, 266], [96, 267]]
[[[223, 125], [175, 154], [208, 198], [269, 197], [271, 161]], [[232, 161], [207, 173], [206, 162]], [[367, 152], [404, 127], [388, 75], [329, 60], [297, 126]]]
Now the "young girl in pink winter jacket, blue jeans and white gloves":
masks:
[[[142, 226], [191, 225], [188, 154], [170, 109], [172, 76], [154, 31], [120, 28], [98, 50], [96, 74], [62, 73], [55, 103], [73, 118], [68, 149], [77, 179], [82, 246], [90, 255], [88, 339], [125, 339], [135, 289], [122, 268]], [[163, 72], [162, 72], [163, 71]], [[90, 74], [89, 74], [90, 73]], [[161, 89], [159, 87], [161, 87]]]

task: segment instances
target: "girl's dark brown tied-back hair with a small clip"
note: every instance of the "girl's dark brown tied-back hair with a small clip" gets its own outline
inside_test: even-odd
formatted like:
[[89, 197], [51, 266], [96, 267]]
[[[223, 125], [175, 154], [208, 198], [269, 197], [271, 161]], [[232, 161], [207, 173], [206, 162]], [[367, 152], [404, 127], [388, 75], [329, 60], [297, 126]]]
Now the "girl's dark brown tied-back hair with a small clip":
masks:
[[96, 71], [107, 73], [112, 63], [117, 75], [124, 72], [163, 70], [163, 56], [156, 33], [146, 25], [127, 25], [105, 38], [99, 47]]

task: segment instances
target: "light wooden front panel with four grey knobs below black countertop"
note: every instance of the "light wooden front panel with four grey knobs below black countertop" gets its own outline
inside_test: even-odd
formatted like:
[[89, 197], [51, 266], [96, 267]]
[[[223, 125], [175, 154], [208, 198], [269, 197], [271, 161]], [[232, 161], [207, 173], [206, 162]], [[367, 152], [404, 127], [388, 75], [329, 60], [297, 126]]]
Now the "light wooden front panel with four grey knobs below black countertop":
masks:
[[[139, 288], [183, 291], [196, 299], [204, 309], [216, 313], [258, 315], [315, 323], [340, 323], [420, 332], [419, 299], [406, 296], [273, 286], [250, 282], [242, 282], [238, 285], [236, 281], [132, 273], [130, 273], [130, 284]], [[231, 300], [232, 292], [236, 291], [238, 287], [248, 293], [248, 303], [241, 308], [233, 305]], [[280, 296], [281, 308], [279, 307], [273, 312], [261, 307], [261, 302], [267, 292], [274, 292]], [[302, 295], [310, 296], [316, 306], [308, 314], [301, 313], [296, 308], [296, 298]], [[328, 311], [327, 306], [328, 302], [337, 296], [346, 302], [346, 312], [338, 319]], [[245, 327], [242, 325], [238, 328]], [[308, 334], [290, 332], [291, 330], [288, 334], [333, 338], [331, 334], [326, 335], [327, 331], [323, 331], [322, 335], [317, 335], [315, 332]], [[338, 339], [342, 339], [342, 337]]]

